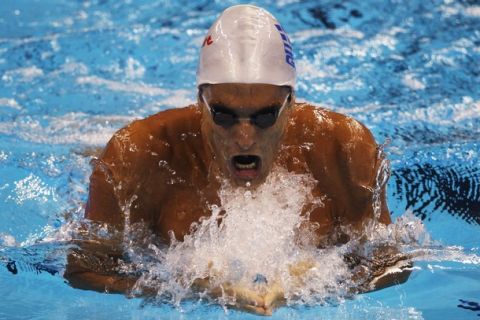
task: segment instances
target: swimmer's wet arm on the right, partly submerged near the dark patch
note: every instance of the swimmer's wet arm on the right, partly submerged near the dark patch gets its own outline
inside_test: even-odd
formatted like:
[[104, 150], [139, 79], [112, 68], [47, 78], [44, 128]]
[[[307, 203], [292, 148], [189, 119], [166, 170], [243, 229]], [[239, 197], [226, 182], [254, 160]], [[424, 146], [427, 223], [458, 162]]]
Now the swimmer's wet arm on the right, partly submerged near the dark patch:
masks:
[[[386, 160], [380, 153], [372, 133], [359, 122], [353, 119], [341, 121], [336, 130], [335, 136], [339, 142], [339, 149], [342, 150], [339, 162], [342, 163], [340, 175], [345, 179], [348, 190], [346, 199], [350, 201], [349, 206], [346, 206], [349, 209], [340, 219], [361, 235], [365, 232], [364, 227], [368, 222], [375, 219], [374, 191], [377, 188], [377, 175]], [[378, 190], [380, 195], [377, 219], [380, 223], [390, 224], [385, 186], [386, 183]], [[410, 257], [402, 254], [398, 248], [388, 245], [375, 248], [367, 257], [352, 254], [345, 259], [354, 262], [353, 280], [358, 283], [361, 292], [404, 283], [412, 270]]]

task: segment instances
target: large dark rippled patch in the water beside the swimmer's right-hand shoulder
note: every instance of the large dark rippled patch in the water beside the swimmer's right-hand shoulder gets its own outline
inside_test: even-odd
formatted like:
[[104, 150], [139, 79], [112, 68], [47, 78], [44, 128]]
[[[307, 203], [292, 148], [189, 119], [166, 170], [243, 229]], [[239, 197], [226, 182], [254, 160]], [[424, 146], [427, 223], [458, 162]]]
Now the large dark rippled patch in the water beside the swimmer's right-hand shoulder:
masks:
[[394, 196], [422, 220], [443, 210], [480, 225], [480, 168], [427, 163], [396, 169], [392, 179]]

